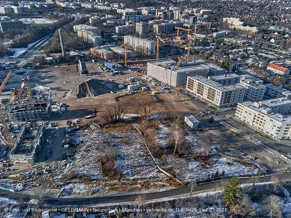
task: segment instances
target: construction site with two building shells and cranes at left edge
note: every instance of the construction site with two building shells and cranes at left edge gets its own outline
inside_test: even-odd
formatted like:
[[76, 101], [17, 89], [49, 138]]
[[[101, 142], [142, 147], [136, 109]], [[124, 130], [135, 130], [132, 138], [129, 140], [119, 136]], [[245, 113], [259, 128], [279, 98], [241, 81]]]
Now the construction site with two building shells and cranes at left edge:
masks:
[[[0, 92], [11, 75], [8, 72]], [[0, 109], [4, 137], [1, 136], [1, 166], [32, 165], [43, 142], [45, 121], [51, 115], [50, 88], [29, 87], [29, 74], [19, 89], [11, 89], [12, 98]], [[3, 115], [3, 110], [6, 116]]]

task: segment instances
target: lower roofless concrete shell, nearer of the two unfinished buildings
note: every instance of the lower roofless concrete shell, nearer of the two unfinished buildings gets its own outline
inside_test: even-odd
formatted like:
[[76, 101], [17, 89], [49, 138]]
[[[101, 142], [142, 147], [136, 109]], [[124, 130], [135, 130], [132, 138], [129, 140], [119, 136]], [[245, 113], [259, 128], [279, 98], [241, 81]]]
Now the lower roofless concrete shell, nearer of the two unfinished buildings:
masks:
[[19, 130], [20, 133], [13, 142], [13, 148], [9, 151], [9, 162], [33, 164], [44, 140], [45, 123], [27, 123], [22, 126], [14, 125], [13, 128], [15, 131]]

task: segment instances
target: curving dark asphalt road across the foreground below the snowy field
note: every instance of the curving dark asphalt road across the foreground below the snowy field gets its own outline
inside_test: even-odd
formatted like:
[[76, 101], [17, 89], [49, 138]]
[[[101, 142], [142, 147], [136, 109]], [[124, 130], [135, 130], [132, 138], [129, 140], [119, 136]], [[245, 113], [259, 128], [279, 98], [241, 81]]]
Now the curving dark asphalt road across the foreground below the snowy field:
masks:
[[[291, 173], [281, 173], [277, 174], [276, 177], [280, 180], [290, 180]], [[258, 177], [260, 183], [272, 181], [272, 176], [261, 176]], [[249, 183], [249, 178], [241, 178], [241, 183]], [[219, 181], [214, 181], [211, 183], [198, 184], [194, 187], [193, 192], [205, 192], [207, 190], [215, 187], [215, 184]], [[174, 197], [177, 195], [188, 194], [191, 192], [191, 187], [177, 188], [162, 192], [152, 192], [144, 194], [145, 200], [161, 199], [165, 197]], [[36, 198], [36, 196], [21, 194], [17, 192], [9, 192], [0, 190], [0, 196], [15, 199], [19, 201], [29, 202], [31, 199]], [[131, 195], [118, 195], [118, 196], [104, 196], [104, 197], [92, 197], [92, 198], [43, 198], [44, 203], [50, 205], [88, 205], [88, 204], [104, 204], [104, 203], [124, 203], [135, 201], [139, 194]]]

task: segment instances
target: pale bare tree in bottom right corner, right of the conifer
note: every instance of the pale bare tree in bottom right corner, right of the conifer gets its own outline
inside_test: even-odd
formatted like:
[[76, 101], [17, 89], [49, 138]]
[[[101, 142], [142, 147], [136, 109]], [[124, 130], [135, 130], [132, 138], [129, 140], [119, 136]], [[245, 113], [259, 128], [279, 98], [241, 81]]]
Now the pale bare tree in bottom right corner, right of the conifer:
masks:
[[280, 198], [275, 194], [270, 194], [264, 201], [264, 208], [269, 217], [281, 217]]

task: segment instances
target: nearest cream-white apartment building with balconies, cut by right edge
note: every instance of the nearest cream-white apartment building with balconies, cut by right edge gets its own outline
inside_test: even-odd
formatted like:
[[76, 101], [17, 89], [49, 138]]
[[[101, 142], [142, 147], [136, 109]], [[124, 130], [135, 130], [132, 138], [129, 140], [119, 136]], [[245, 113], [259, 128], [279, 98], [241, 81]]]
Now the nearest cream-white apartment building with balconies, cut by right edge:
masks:
[[291, 116], [275, 113], [260, 102], [237, 103], [235, 117], [276, 139], [291, 137]]

